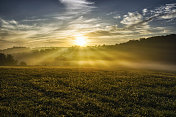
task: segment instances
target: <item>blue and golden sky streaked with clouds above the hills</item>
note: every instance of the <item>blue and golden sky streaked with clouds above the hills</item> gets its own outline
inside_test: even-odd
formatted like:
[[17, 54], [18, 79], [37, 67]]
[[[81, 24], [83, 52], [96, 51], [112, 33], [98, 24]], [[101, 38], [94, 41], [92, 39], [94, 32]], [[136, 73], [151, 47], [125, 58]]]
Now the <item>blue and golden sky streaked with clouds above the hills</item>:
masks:
[[176, 0], [0, 0], [0, 49], [114, 45], [176, 33]]

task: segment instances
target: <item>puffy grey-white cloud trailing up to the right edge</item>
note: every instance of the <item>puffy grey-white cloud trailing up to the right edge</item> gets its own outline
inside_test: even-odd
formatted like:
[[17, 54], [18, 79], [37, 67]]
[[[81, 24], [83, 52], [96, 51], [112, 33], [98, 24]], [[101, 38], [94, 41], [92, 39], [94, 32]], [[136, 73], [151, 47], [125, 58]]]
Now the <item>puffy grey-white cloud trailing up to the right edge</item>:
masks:
[[[143, 15], [138, 12], [129, 12], [127, 15], [123, 16], [123, 20], [120, 23], [126, 26], [125, 29], [132, 29], [144, 24], [148, 25], [148, 23], [153, 20], [168, 20], [176, 18], [176, 3], [166, 4], [165, 6], [150, 11], [143, 9], [142, 12]], [[145, 16], [146, 13], [148, 13], [148, 17]]]

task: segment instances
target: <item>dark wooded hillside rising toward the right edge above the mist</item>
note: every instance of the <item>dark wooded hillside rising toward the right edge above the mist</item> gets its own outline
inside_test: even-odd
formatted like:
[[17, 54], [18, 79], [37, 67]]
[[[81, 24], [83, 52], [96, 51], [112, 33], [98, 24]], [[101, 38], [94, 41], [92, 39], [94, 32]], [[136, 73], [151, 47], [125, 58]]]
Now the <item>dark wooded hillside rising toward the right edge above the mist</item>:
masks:
[[137, 59], [176, 64], [176, 34], [130, 40], [108, 48], [136, 55]]

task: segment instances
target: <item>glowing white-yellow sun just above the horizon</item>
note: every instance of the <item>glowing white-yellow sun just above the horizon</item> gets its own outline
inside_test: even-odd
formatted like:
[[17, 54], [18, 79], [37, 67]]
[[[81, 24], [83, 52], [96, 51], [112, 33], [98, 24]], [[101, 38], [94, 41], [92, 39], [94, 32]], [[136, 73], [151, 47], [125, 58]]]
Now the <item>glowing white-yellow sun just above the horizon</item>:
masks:
[[74, 40], [74, 44], [77, 46], [86, 46], [87, 45], [87, 39], [85, 36], [76, 36]]

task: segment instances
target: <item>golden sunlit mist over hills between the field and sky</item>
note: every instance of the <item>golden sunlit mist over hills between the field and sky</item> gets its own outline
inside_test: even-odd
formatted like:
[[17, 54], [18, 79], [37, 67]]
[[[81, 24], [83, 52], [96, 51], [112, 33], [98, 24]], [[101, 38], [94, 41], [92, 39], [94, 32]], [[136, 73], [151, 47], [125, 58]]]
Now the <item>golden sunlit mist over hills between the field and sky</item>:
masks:
[[116, 45], [33, 49], [14, 47], [1, 52], [11, 54], [27, 65], [175, 70], [175, 43], [176, 35], [168, 35]]

